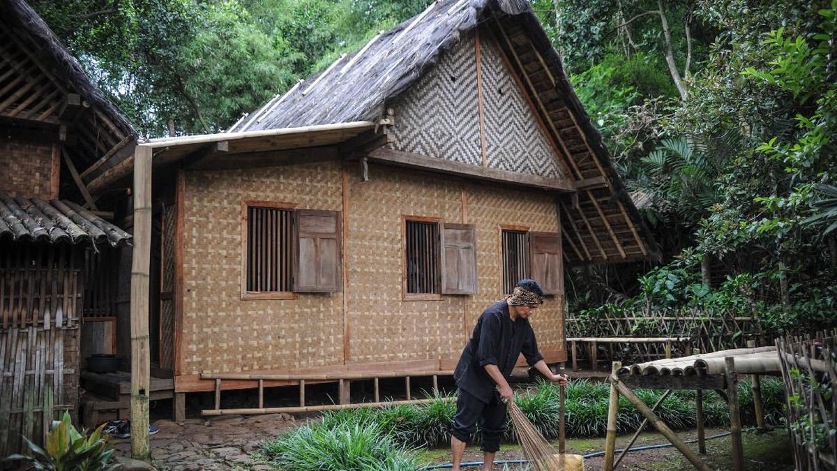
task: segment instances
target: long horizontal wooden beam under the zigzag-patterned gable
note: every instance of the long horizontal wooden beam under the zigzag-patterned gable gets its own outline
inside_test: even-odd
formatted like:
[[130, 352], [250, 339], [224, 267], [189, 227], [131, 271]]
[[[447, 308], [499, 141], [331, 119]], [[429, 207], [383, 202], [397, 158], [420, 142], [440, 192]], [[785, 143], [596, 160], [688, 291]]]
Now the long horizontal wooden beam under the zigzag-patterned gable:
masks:
[[470, 163], [459, 163], [444, 158], [427, 157], [418, 153], [408, 153], [393, 149], [380, 148], [368, 154], [372, 160], [392, 163], [401, 167], [419, 168], [430, 172], [447, 173], [460, 177], [499, 182], [505, 184], [519, 184], [531, 188], [550, 189], [562, 192], [575, 191], [575, 184], [571, 179], [545, 179], [537, 175], [509, 172], [499, 168], [483, 168]]

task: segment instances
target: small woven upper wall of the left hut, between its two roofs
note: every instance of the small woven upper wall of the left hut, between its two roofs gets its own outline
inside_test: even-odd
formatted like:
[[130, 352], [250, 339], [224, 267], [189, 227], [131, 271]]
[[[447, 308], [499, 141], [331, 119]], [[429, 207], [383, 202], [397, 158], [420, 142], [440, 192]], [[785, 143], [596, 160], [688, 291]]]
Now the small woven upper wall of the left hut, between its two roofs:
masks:
[[0, 194], [9, 197], [58, 198], [58, 168], [53, 166], [52, 145], [0, 140]]

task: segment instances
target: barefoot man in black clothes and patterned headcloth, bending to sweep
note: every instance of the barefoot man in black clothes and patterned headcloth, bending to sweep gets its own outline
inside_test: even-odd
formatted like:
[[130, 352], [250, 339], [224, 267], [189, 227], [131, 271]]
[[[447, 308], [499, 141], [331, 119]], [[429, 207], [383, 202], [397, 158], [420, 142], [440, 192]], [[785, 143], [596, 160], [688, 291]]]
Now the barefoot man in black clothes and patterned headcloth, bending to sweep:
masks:
[[491, 304], [477, 319], [474, 334], [454, 371], [459, 386], [456, 416], [450, 427], [454, 471], [460, 469], [465, 444], [478, 424], [484, 453], [482, 468], [488, 471], [494, 467], [494, 455], [506, 432], [506, 401], [514, 400], [508, 378], [521, 353], [547, 379], [567, 384], [567, 376], [552, 374], [537, 350], [529, 317], [542, 303], [540, 285], [525, 279], [517, 282], [510, 296]]

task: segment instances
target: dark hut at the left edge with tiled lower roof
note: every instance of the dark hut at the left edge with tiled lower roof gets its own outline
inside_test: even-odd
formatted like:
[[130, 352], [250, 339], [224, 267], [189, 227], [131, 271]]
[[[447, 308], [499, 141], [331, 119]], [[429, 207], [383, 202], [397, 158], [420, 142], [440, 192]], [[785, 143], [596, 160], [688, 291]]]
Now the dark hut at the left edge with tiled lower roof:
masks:
[[[22, 0], [0, 1], [0, 458], [75, 417], [87, 353], [116, 339], [108, 198], [80, 181], [136, 133]], [[123, 191], [123, 195], [125, 192]], [[2, 466], [0, 466], [2, 467]]]

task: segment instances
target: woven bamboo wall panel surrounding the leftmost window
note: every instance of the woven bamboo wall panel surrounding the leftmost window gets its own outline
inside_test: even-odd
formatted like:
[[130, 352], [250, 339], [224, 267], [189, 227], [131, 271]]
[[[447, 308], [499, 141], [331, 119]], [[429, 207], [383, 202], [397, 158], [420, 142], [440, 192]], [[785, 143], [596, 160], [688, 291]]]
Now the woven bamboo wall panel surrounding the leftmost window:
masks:
[[341, 210], [340, 163], [187, 173], [182, 373], [343, 360], [342, 294], [241, 299], [241, 202]]

